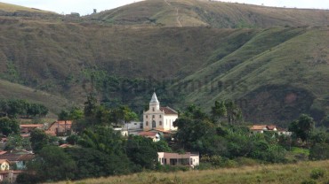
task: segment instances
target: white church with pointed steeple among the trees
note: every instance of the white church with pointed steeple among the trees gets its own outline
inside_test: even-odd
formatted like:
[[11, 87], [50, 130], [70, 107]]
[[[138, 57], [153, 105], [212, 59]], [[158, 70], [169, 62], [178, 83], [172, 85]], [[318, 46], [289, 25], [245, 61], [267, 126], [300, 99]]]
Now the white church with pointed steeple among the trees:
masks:
[[177, 127], [173, 126], [173, 121], [176, 119], [178, 119], [178, 112], [170, 107], [160, 107], [156, 93], [153, 93], [148, 111], [144, 111], [143, 113], [143, 130], [177, 130]]

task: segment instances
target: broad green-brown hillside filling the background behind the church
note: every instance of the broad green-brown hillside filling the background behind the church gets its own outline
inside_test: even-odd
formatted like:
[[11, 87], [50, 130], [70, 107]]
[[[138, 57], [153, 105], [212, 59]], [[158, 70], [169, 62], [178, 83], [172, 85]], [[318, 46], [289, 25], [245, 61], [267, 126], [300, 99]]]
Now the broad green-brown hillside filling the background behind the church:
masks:
[[[221, 6], [232, 13], [258, 10], [263, 20], [254, 19], [262, 22], [259, 28], [214, 28], [236, 27], [237, 22], [220, 24], [221, 18], [213, 14], [218, 24], [205, 23], [212, 27], [149, 27], [138, 18], [166, 12], [167, 3], [181, 8], [193, 4], [204, 12]], [[76, 104], [96, 91], [102, 103], [128, 104], [140, 113], [153, 88], [163, 105], [175, 109], [197, 103], [210, 111], [215, 100], [237, 100], [245, 119], [253, 122], [289, 122], [300, 113], [318, 121], [329, 113], [326, 11], [192, 0], [167, 3], [144, 1], [72, 21], [0, 16], [0, 78]], [[288, 13], [285, 18], [280, 11]], [[269, 21], [272, 12], [277, 17]], [[225, 16], [232, 20], [245, 15], [232, 13]], [[130, 23], [123, 15], [131, 16]], [[99, 24], [99, 19], [123, 25]], [[323, 27], [294, 27], [320, 23]], [[0, 95], [22, 97], [12, 90], [5, 88]], [[40, 102], [37, 96], [26, 97]], [[43, 102], [56, 106], [53, 112], [61, 108]]]

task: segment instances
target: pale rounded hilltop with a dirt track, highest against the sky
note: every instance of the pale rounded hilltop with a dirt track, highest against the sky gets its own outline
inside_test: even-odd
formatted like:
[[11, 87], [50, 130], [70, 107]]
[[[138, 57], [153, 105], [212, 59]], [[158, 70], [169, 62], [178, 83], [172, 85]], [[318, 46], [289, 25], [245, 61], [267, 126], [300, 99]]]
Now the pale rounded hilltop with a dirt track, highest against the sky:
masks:
[[164, 27], [328, 26], [329, 11], [201, 0], [146, 0], [84, 17], [110, 25]]

